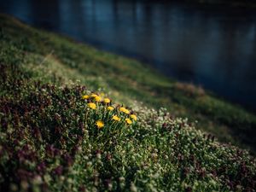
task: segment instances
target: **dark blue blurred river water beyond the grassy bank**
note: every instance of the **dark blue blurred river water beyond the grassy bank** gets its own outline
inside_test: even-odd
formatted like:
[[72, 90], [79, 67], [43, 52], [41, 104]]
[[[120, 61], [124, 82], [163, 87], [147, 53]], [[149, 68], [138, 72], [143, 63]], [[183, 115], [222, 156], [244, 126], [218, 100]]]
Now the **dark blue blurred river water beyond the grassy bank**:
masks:
[[0, 11], [148, 62], [256, 111], [256, 9], [149, 0], [0, 0]]

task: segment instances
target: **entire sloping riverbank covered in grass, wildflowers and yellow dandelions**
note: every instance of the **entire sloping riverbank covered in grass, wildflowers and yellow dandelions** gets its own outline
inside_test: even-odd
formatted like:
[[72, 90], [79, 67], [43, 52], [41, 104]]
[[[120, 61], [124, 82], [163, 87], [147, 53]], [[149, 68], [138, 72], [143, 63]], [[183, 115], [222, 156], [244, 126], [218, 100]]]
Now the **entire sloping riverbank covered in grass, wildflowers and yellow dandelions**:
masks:
[[3, 191], [255, 189], [254, 157], [212, 136], [255, 151], [254, 114], [9, 16], [0, 26]]

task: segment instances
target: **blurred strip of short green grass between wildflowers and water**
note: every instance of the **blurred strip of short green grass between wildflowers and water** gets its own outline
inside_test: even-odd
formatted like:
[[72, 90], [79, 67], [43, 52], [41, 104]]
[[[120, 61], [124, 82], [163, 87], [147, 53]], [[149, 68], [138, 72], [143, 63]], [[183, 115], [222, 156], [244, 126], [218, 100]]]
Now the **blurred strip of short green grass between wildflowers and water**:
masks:
[[165, 107], [173, 115], [187, 117], [191, 122], [198, 120], [197, 127], [211, 132], [219, 141], [255, 152], [254, 114], [205, 94], [193, 85], [166, 79], [137, 61], [75, 44], [4, 15], [0, 20], [2, 61], [12, 59], [15, 54], [12, 48], [17, 47], [26, 52], [27, 66], [40, 68], [41, 73], [50, 71], [49, 76], [62, 81], [79, 79], [91, 90], [103, 88], [115, 100], [128, 105], [137, 100], [148, 107]]

